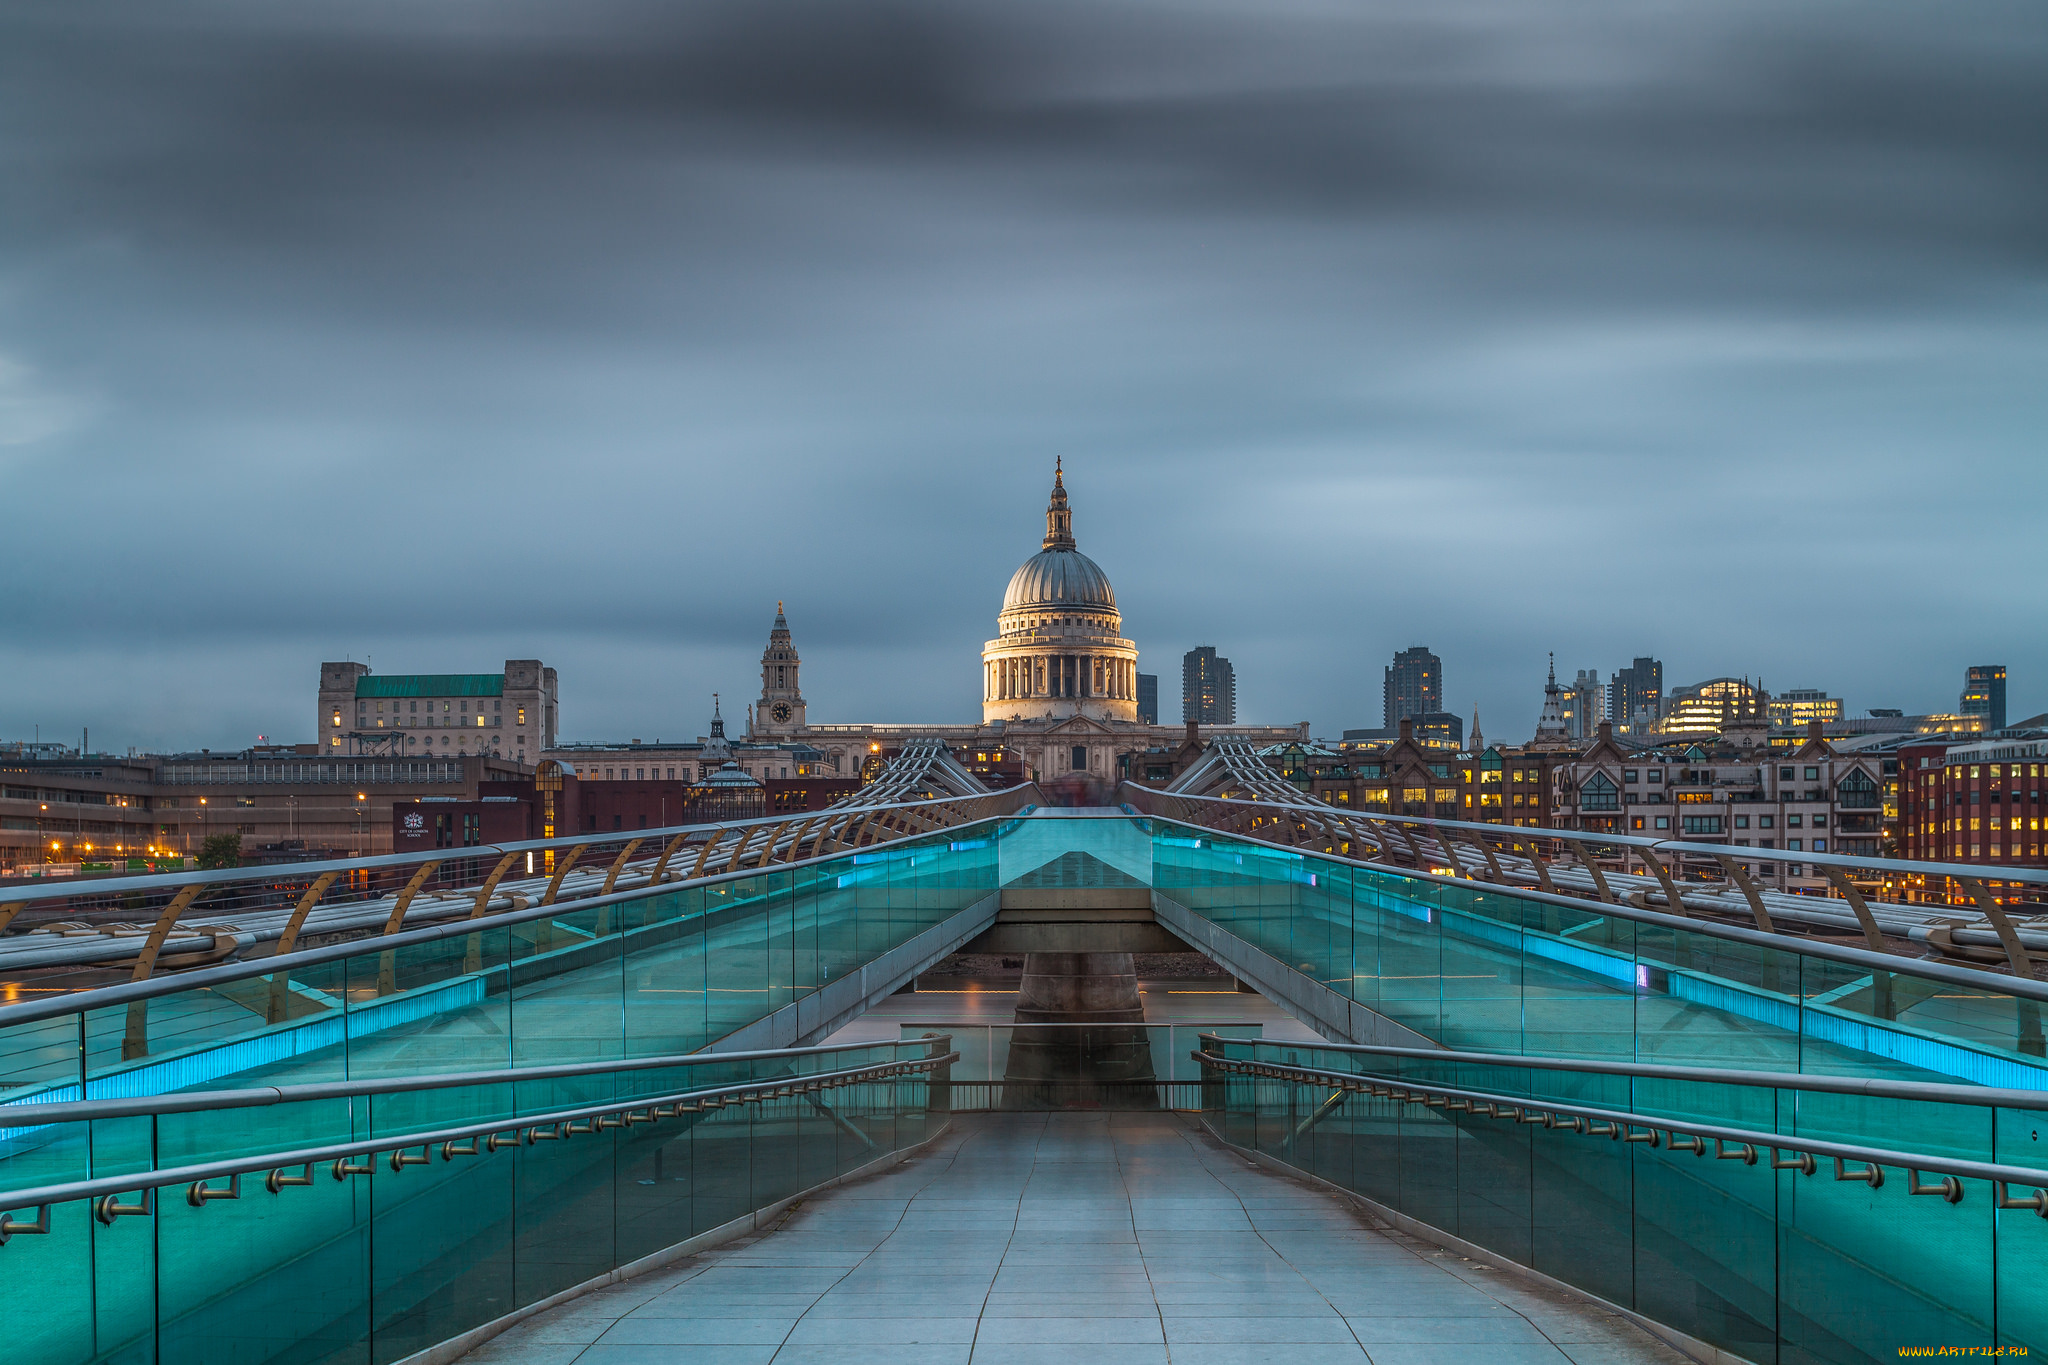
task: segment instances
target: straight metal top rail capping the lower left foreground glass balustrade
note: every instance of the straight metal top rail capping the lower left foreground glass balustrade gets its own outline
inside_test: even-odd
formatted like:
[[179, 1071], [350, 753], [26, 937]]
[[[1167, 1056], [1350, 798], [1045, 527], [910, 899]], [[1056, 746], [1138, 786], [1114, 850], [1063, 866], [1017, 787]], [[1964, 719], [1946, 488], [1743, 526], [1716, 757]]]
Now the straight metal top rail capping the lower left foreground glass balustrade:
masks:
[[815, 1048], [768, 1048], [764, 1052], [678, 1052], [672, 1056], [618, 1058], [614, 1062], [557, 1062], [553, 1066], [504, 1066], [496, 1070], [436, 1070], [416, 1076], [369, 1076], [365, 1081], [313, 1081], [307, 1085], [254, 1085], [236, 1091], [174, 1091], [170, 1095], [133, 1095], [127, 1099], [66, 1099], [47, 1105], [0, 1105], [6, 1128], [45, 1124], [82, 1124], [88, 1119], [127, 1119], [143, 1113], [211, 1113], [213, 1109], [262, 1109], [311, 1099], [350, 1099], [356, 1095], [403, 1095], [410, 1091], [453, 1091], [469, 1085], [518, 1085], [522, 1081], [559, 1081], [563, 1076], [596, 1076], [621, 1070], [666, 1070], [670, 1066], [715, 1066], [721, 1062], [768, 1062], [776, 1058], [823, 1056], [827, 1052], [862, 1052], [866, 1048], [915, 1048], [920, 1038], [877, 1040], [864, 1044], [829, 1044]]

